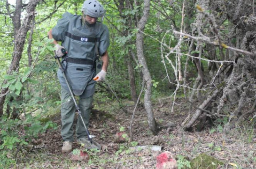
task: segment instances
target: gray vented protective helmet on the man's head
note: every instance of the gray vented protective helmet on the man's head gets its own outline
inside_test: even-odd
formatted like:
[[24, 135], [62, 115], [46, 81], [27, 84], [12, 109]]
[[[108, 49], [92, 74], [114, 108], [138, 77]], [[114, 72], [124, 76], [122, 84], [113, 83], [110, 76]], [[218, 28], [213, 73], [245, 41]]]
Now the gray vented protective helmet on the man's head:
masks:
[[94, 18], [104, 17], [106, 13], [98, 0], [85, 0], [82, 12], [84, 12], [84, 15], [89, 15]]

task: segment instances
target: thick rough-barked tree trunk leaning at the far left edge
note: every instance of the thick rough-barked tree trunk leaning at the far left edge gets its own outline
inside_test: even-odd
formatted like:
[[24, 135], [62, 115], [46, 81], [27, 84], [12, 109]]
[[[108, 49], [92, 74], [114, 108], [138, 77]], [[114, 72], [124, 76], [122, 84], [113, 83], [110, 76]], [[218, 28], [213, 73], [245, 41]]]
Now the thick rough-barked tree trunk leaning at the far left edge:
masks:
[[[20, 63], [20, 59], [22, 57], [22, 51], [24, 48], [24, 43], [25, 43], [25, 39], [26, 39], [26, 35], [28, 30], [30, 29], [30, 22], [32, 20], [32, 18], [35, 15], [35, 8], [37, 6], [37, 4], [40, 2], [41, 0], [30, 0], [27, 7], [26, 7], [26, 11], [27, 14], [23, 19], [23, 24], [22, 26], [16, 30], [16, 28], [18, 28], [18, 22], [16, 17], [20, 17], [19, 12], [15, 12], [15, 14], [17, 16], [14, 16], [14, 20], [13, 20], [13, 24], [15, 27], [15, 42], [14, 42], [14, 53], [13, 53], [13, 59], [11, 61], [11, 64], [8, 68], [8, 72], [7, 74], [11, 74], [12, 72], [18, 71], [19, 70], [19, 63]], [[17, 5], [22, 5], [22, 0], [17, 0], [16, 1]], [[19, 7], [16, 7], [17, 11], [20, 11], [21, 9]], [[20, 19], [20, 18], [19, 18]], [[7, 81], [4, 81], [4, 83], [7, 83]], [[6, 94], [8, 93], [9, 89], [8, 88], [2, 88], [1, 89], [1, 93], [0, 93], [0, 118], [3, 115], [3, 106], [4, 106], [4, 102], [5, 102], [5, 98], [6, 98]]]

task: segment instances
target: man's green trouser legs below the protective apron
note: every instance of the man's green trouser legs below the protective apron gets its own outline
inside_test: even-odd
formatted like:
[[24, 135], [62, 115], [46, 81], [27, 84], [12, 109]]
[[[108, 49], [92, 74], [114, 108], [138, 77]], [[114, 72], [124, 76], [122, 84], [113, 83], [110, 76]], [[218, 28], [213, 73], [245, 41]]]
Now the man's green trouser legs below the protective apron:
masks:
[[[62, 140], [72, 142], [74, 140], [73, 123], [74, 123], [74, 118], [76, 114], [75, 103], [70, 95], [70, 92], [63, 88], [61, 90], [61, 99], [62, 99], [62, 107], [61, 107]], [[81, 115], [84, 119], [84, 122], [87, 128], [88, 128], [89, 120], [91, 117], [92, 103], [93, 103], [93, 96], [90, 96], [87, 98], [79, 97], [78, 107], [81, 111]], [[78, 122], [76, 125], [76, 136], [77, 136], [77, 139], [87, 138], [85, 127], [79, 115], [78, 115]]]

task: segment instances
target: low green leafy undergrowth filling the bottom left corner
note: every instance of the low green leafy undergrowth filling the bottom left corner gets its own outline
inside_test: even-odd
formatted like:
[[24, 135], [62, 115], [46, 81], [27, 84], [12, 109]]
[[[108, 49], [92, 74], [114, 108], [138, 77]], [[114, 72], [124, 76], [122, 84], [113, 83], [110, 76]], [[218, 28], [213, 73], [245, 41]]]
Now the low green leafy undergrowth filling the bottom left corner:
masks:
[[6, 169], [14, 164], [17, 158], [16, 154], [39, 133], [57, 126], [52, 121], [42, 125], [39, 121], [40, 117], [26, 115], [24, 118], [24, 120], [12, 120], [2, 117], [0, 121], [0, 169]]

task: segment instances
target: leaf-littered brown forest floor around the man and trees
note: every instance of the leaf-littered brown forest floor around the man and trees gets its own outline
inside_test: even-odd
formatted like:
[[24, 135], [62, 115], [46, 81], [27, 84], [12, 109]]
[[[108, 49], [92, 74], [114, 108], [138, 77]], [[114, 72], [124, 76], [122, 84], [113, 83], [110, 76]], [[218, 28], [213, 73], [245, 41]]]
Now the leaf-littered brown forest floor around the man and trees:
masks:
[[[234, 125], [228, 132], [222, 132], [221, 125], [205, 128], [201, 132], [186, 132], [180, 128], [188, 114], [189, 105], [183, 99], [176, 100], [171, 112], [171, 103], [166, 99], [153, 103], [155, 119], [162, 126], [157, 135], [152, 135], [147, 125], [147, 113], [143, 108], [135, 112], [133, 122], [133, 142], [116, 142], [115, 134], [124, 131], [129, 136], [134, 105], [125, 103], [125, 113], [118, 109], [117, 103], [94, 106], [91, 134], [101, 144], [101, 151], [87, 153], [89, 160], [74, 160], [72, 154], [62, 154], [60, 113], [51, 117], [58, 124], [56, 130], [47, 130], [33, 140], [30, 151], [20, 157], [13, 169], [155, 169], [156, 156], [163, 151], [170, 151], [192, 160], [201, 153], [206, 153], [224, 162], [218, 169], [256, 169], [256, 134], [254, 128], [247, 125]], [[103, 106], [105, 105], [105, 107]], [[103, 108], [104, 107], [104, 108]], [[103, 110], [102, 110], [103, 109]], [[168, 127], [169, 126], [169, 127]], [[150, 149], [131, 150], [129, 147], [158, 145], [162, 151]], [[73, 148], [80, 150], [75, 141]]]

